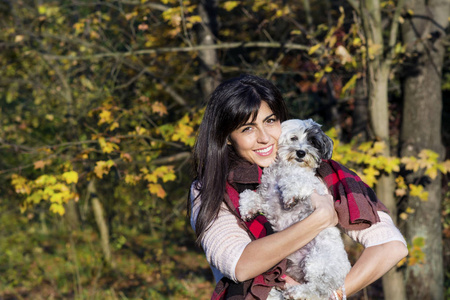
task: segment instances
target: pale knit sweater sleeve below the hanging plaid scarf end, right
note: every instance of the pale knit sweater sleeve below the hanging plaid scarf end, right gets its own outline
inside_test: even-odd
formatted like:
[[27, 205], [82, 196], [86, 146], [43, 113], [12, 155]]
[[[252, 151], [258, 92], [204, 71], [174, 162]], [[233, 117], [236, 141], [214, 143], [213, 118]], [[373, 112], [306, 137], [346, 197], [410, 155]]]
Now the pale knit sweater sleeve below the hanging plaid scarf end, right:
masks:
[[406, 241], [400, 230], [394, 225], [391, 217], [382, 211], [378, 212], [380, 222], [363, 230], [347, 230], [346, 233], [365, 248], [381, 245], [391, 241], [400, 241], [406, 246]]

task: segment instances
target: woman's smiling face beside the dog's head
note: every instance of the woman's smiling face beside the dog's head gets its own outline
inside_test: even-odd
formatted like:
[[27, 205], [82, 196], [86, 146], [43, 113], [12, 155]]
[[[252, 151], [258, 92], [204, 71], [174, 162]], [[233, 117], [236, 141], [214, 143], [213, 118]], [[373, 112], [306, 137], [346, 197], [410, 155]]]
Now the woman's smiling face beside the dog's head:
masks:
[[263, 101], [255, 121], [250, 119], [234, 130], [230, 143], [242, 158], [264, 168], [275, 160], [280, 134], [280, 120]]

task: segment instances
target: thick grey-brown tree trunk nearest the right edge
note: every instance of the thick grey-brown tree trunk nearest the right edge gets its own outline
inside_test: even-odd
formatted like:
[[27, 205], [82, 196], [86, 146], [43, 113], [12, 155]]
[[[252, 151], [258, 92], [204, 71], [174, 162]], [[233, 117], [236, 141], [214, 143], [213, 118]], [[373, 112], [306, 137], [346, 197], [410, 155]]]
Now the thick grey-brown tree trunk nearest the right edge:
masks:
[[[402, 33], [411, 68], [403, 82], [402, 156], [416, 156], [423, 149], [444, 154], [441, 141], [441, 78], [445, 48], [442, 30], [448, 26], [449, 1], [411, 0], [406, 4], [414, 14], [403, 25]], [[436, 26], [437, 24], [437, 26]], [[431, 180], [423, 174], [410, 174], [408, 181], [420, 181], [429, 193], [428, 201], [409, 197], [415, 209], [406, 221], [406, 239], [425, 238], [425, 262], [408, 266], [408, 299], [443, 299], [444, 270], [441, 228], [441, 176]]]

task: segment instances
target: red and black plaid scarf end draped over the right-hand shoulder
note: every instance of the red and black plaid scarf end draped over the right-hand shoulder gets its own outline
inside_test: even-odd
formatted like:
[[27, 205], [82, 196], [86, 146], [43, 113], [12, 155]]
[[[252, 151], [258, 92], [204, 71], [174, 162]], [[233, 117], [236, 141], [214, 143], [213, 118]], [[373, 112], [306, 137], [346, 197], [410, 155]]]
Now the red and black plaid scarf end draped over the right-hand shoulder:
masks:
[[335, 200], [339, 225], [361, 230], [380, 221], [377, 211], [388, 212], [375, 192], [355, 172], [334, 160], [322, 160], [317, 173]]

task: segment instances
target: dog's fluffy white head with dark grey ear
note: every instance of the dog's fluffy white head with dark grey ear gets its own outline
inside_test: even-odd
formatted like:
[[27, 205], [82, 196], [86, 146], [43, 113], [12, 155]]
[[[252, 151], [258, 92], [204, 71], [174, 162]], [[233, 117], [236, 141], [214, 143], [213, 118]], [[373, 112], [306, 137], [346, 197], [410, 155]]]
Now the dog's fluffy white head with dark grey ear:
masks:
[[284, 121], [278, 140], [278, 159], [312, 169], [318, 168], [322, 159], [330, 159], [333, 140], [320, 127], [311, 119]]

